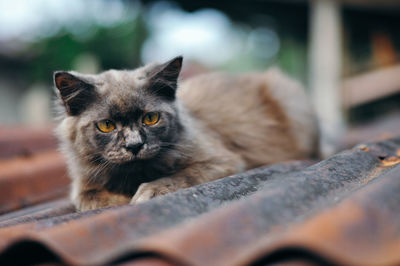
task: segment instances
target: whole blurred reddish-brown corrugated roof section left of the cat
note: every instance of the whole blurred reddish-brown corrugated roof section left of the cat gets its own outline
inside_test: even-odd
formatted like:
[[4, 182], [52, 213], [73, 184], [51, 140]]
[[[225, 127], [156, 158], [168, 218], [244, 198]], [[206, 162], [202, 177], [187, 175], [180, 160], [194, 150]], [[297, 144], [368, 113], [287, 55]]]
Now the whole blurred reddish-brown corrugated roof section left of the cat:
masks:
[[0, 128], [0, 214], [66, 195], [64, 159], [50, 128]]

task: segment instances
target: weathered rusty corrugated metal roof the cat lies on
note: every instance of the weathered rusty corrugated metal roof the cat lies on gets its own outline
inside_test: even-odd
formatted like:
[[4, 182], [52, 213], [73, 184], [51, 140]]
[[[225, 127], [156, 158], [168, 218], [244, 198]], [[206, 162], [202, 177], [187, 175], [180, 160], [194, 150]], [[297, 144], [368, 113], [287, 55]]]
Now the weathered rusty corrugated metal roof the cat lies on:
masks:
[[400, 138], [84, 213], [52, 149], [0, 161], [0, 265], [400, 264]]

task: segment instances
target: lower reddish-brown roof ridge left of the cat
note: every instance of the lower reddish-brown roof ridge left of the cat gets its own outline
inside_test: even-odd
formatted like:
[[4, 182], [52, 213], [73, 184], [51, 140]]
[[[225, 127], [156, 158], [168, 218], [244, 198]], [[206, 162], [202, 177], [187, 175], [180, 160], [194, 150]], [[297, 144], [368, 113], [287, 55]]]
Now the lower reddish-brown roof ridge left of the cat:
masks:
[[57, 151], [0, 160], [0, 214], [65, 196], [68, 184]]

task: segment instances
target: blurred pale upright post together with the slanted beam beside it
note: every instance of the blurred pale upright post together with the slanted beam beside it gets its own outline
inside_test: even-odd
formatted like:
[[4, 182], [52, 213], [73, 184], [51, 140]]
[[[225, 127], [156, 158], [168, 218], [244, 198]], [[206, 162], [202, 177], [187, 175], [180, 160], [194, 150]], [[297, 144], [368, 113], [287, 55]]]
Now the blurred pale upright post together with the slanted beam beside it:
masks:
[[322, 153], [331, 155], [345, 133], [347, 123], [344, 119], [352, 107], [400, 92], [400, 65], [388, 67], [398, 61], [398, 56], [390, 36], [385, 33], [375, 33], [371, 39], [372, 56], [378, 69], [354, 77], [344, 76], [342, 36], [347, 32], [343, 28], [342, 8], [346, 5], [360, 9], [377, 8], [378, 12], [385, 13], [393, 12], [393, 9], [399, 11], [400, 3], [372, 0], [313, 0], [309, 3], [311, 96], [321, 123]]

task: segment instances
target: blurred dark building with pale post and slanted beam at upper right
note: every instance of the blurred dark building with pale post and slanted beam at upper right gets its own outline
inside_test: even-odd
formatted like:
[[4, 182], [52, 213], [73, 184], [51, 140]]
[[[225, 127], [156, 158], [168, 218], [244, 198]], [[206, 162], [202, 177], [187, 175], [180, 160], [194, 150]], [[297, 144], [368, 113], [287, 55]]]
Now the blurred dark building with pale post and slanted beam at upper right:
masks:
[[[337, 151], [347, 127], [400, 112], [400, 104], [396, 106], [400, 100], [398, 1], [176, 2], [190, 12], [215, 8], [233, 21], [272, 27], [278, 33], [277, 64], [307, 84], [320, 118], [326, 156]], [[290, 43], [303, 46], [297, 45], [292, 53], [286, 49]], [[264, 50], [268, 49], [265, 44]]]

